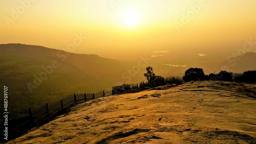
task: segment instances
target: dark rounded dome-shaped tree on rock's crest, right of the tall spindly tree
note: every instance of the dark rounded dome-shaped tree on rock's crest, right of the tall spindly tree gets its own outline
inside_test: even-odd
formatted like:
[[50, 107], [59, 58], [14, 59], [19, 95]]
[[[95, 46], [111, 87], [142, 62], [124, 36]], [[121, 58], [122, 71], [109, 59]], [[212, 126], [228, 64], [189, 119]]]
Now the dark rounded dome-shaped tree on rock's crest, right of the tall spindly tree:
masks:
[[204, 80], [204, 71], [202, 68], [189, 68], [185, 71], [185, 76], [183, 76], [183, 80], [185, 82], [189, 81], [202, 81]]

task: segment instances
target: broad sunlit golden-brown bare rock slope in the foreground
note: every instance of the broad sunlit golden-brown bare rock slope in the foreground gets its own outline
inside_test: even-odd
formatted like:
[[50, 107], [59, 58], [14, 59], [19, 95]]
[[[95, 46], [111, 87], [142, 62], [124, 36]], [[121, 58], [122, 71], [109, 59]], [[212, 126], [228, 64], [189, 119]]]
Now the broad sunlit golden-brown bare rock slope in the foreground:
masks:
[[114, 95], [7, 143], [256, 143], [255, 91], [255, 84], [203, 81]]

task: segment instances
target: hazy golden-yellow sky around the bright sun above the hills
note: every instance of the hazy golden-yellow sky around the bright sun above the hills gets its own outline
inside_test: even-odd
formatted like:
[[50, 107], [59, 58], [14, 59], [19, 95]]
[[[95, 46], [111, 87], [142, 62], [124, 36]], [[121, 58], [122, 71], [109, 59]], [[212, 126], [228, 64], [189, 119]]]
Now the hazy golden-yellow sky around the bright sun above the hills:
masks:
[[[0, 43], [100, 56], [134, 51], [230, 50], [256, 41], [256, 1], [1, 0]], [[251, 50], [255, 51], [255, 47]], [[200, 53], [200, 52], [198, 52]]]

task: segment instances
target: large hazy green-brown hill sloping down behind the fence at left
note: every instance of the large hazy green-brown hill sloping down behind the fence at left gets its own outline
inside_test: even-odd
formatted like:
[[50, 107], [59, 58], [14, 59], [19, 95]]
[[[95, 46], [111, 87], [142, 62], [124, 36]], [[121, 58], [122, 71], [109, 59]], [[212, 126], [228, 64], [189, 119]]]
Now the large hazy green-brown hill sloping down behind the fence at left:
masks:
[[97, 55], [26, 44], [1, 44], [0, 59], [0, 85], [9, 88], [13, 110], [55, 102], [73, 92], [111, 90], [117, 82], [125, 83], [122, 74], [131, 68]]

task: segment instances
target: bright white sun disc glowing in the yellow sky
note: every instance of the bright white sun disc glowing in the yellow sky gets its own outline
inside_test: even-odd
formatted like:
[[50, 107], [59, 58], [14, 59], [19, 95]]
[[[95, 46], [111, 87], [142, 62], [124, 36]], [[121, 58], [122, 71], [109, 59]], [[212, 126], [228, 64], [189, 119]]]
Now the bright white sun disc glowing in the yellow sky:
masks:
[[123, 14], [123, 22], [126, 26], [135, 26], [138, 23], [138, 14], [133, 10], [126, 11]]

